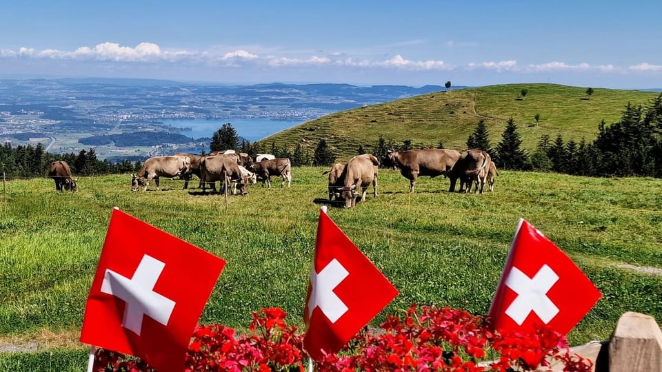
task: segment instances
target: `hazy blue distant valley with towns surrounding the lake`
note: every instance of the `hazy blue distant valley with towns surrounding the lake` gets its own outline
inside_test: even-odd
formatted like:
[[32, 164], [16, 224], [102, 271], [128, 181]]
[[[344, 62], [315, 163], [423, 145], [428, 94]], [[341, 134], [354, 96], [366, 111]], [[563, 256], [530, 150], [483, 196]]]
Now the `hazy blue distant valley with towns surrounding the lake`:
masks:
[[[458, 89], [460, 87], [452, 87]], [[173, 120], [299, 122], [334, 112], [446, 90], [348, 84], [210, 85], [139, 79], [0, 80], [0, 141], [42, 143], [48, 152], [94, 147], [99, 158], [199, 151]], [[219, 125], [220, 127], [220, 125]], [[149, 134], [152, 132], [152, 135]], [[238, 130], [241, 136], [241, 131]], [[116, 143], [117, 142], [117, 143]]]

